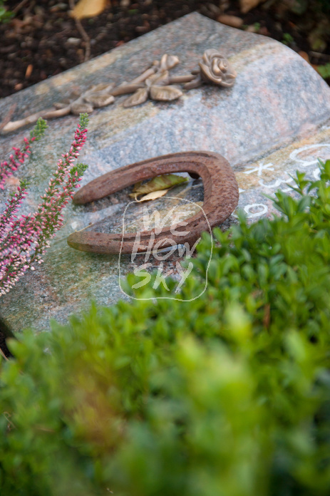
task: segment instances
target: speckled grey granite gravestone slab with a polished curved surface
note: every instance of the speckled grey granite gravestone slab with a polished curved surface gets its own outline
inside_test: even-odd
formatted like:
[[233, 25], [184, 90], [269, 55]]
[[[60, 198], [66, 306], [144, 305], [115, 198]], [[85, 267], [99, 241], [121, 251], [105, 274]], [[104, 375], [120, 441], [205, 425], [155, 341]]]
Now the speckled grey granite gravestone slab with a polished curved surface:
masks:
[[[89, 164], [82, 183], [149, 157], [213, 150], [234, 167], [241, 190], [239, 207], [247, 216], [253, 220], [272, 215], [272, 204], [263, 194], [272, 195], [277, 188], [286, 190], [292, 184], [289, 174], [297, 168], [316, 177], [317, 157], [330, 157], [330, 88], [297, 53], [270, 38], [190, 14], [0, 100], [0, 115], [5, 118], [14, 110], [13, 119], [23, 118], [91, 84], [130, 81], [163, 53], [180, 58], [173, 74], [187, 73], [207, 48], [219, 48], [230, 59], [238, 74], [233, 88], [203, 86], [172, 103], [148, 101], [135, 108], [123, 108], [125, 97], [119, 97], [114, 105], [95, 110], [81, 155], [81, 161]], [[36, 207], [58, 157], [70, 145], [76, 122], [73, 115], [50, 120], [47, 138], [36, 143], [31, 160], [17, 173], [31, 180], [24, 212]], [[1, 157], [6, 157], [11, 146], [19, 145], [31, 128], [1, 136]], [[0, 194], [1, 206], [5, 193], [13, 188], [14, 182], [9, 181]], [[169, 195], [197, 203], [193, 207], [183, 202], [187, 216], [202, 205], [199, 181], [191, 180]], [[68, 314], [86, 309], [91, 299], [112, 304], [123, 296], [118, 257], [76, 252], [68, 247], [66, 237], [95, 222], [100, 231], [120, 232], [129, 200], [124, 191], [85, 207], [68, 206], [65, 226], [53, 239], [45, 263], [1, 298], [0, 313], [14, 331], [24, 326], [45, 329], [50, 318], [65, 321]], [[154, 206], [164, 212], [165, 203], [157, 200]], [[167, 203], [168, 209], [172, 203]], [[133, 208], [126, 217], [126, 228], [132, 230], [143, 216], [141, 205]], [[233, 215], [226, 226], [234, 221]], [[130, 257], [122, 257], [122, 274], [134, 267]], [[169, 267], [175, 276], [174, 262], [167, 261]]]

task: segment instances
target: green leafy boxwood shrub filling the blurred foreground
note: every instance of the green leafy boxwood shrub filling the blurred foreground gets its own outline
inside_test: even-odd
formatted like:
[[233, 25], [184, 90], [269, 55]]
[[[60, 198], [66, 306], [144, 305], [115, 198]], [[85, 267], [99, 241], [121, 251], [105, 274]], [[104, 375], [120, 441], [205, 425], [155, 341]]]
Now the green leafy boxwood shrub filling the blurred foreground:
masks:
[[[215, 229], [195, 301], [93, 306], [12, 339], [0, 494], [329, 495], [329, 180], [330, 161], [297, 173], [282, 217]], [[205, 235], [185, 299], [209, 256]]]

